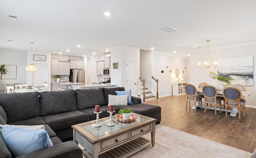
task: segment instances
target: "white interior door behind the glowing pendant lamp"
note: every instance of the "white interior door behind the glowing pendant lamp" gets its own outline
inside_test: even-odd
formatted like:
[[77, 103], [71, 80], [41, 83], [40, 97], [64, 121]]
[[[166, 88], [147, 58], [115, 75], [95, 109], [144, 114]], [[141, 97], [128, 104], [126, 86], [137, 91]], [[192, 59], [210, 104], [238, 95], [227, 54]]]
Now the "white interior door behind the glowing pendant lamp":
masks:
[[37, 68], [32, 72], [32, 85], [42, 85], [48, 83], [47, 77], [47, 64], [34, 64]]

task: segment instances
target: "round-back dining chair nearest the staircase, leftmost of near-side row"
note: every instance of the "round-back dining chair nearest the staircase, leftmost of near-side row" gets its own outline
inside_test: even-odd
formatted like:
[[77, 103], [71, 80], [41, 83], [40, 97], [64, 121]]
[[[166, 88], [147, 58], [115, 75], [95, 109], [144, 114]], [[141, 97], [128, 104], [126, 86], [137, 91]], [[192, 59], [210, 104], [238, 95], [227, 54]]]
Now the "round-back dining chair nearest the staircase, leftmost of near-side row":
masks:
[[202, 109], [202, 98], [201, 97], [196, 97], [197, 94], [197, 89], [194, 85], [191, 84], [186, 84], [185, 85], [185, 93], [187, 95], [187, 102], [186, 102], [186, 110], [188, 107], [188, 101], [189, 101], [189, 108], [190, 108], [190, 101], [194, 101], [194, 105], [195, 105], [195, 111], [196, 111], [196, 102], [198, 101], [198, 105], [201, 101], [201, 109]]

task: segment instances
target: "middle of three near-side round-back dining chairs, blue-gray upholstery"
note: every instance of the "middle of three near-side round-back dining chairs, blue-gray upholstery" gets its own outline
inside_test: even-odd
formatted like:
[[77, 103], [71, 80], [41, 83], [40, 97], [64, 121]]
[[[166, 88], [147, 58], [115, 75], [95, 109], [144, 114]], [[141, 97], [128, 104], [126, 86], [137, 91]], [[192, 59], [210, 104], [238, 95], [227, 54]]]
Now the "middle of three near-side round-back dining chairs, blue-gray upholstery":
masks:
[[217, 114], [216, 104], [220, 104], [220, 113], [221, 113], [221, 100], [217, 99], [217, 95], [218, 95], [217, 89], [211, 85], [205, 85], [202, 88], [202, 92], [204, 95], [204, 103], [205, 103], [204, 113], [206, 113], [207, 111], [208, 104], [211, 104], [211, 105], [214, 104], [215, 115]]

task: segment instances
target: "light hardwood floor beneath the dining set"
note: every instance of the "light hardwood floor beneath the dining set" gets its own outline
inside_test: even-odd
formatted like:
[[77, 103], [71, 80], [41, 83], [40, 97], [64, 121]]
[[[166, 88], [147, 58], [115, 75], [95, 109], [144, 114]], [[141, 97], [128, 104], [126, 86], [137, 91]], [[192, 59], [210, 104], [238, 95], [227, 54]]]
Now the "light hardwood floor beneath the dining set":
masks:
[[214, 110], [204, 113], [204, 108], [202, 110], [198, 108], [196, 112], [189, 108], [186, 111], [185, 95], [162, 97], [159, 100], [147, 101], [146, 104], [159, 105], [162, 108], [160, 122], [162, 125], [248, 152], [253, 152], [256, 148], [256, 109], [254, 108], [246, 107], [246, 116], [243, 117], [241, 113], [239, 120], [238, 115], [231, 117], [230, 113], [228, 117], [225, 117], [225, 112], [220, 114], [220, 111], [215, 115]]

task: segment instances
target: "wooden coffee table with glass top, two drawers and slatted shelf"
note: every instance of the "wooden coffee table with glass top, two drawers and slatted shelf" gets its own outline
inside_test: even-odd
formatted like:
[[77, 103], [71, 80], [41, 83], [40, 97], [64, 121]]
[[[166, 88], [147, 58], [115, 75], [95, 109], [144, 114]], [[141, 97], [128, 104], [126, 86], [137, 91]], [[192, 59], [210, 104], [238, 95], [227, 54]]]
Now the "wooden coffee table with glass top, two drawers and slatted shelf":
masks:
[[[73, 140], [84, 147], [83, 153], [92, 158], [126, 158], [155, 144], [156, 119], [132, 113], [134, 122], [120, 122], [112, 117], [114, 126], [108, 126], [109, 117], [73, 125]], [[142, 137], [151, 133], [151, 140]]]

